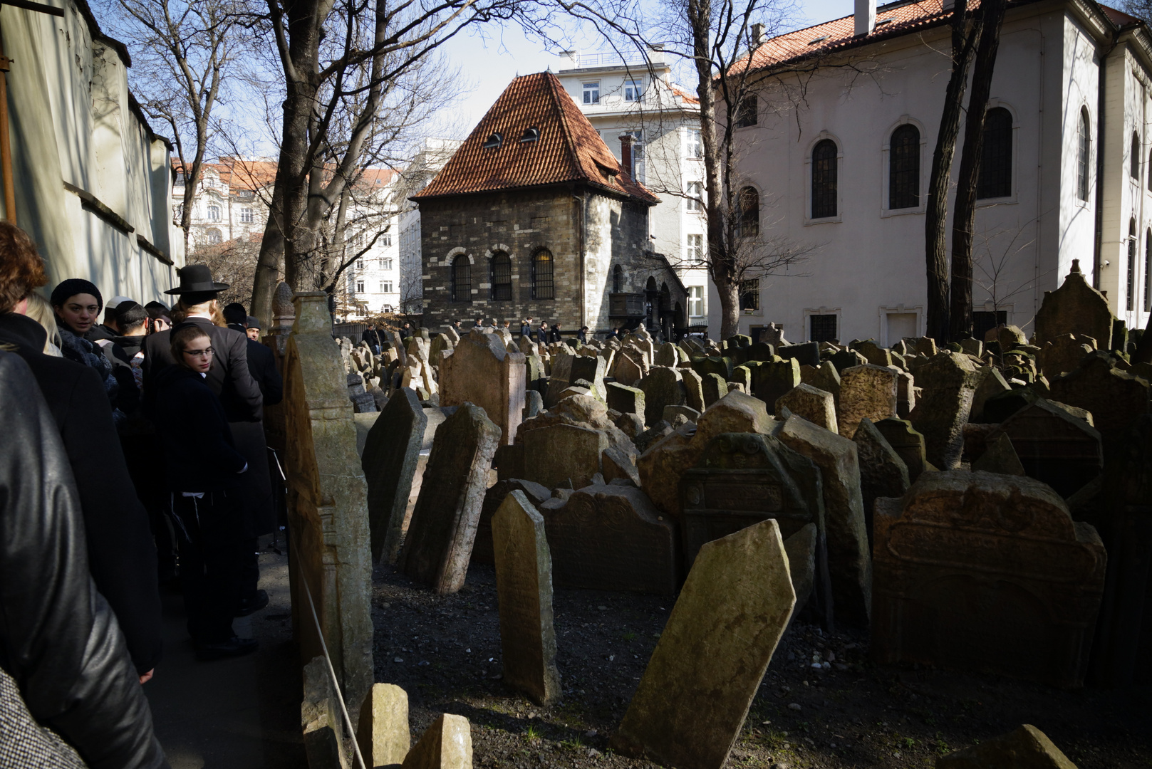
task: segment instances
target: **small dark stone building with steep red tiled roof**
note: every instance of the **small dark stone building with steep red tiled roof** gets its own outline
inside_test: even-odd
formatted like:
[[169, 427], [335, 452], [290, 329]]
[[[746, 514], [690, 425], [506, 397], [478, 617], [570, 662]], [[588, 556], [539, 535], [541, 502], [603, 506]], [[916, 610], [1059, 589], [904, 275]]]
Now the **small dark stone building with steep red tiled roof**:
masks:
[[[649, 242], [659, 199], [629, 165], [553, 74], [515, 78], [411, 198], [424, 323], [532, 317], [606, 332], [617, 318], [635, 327], [651, 305], [651, 323], [683, 327], [683, 285]], [[624, 306], [631, 315], [613, 312]]]

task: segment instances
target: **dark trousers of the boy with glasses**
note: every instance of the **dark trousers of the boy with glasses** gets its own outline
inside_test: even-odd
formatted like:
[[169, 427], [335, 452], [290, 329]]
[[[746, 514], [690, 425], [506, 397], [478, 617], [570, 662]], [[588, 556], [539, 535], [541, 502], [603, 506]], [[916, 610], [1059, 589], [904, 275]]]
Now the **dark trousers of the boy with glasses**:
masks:
[[240, 604], [244, 551], [241, 494], [206, 492], [197, 498], [173, 495], [180, 541], [180, 585], [188, 634], [197, 644], [219, 644], [235, 635], [232, 618]]

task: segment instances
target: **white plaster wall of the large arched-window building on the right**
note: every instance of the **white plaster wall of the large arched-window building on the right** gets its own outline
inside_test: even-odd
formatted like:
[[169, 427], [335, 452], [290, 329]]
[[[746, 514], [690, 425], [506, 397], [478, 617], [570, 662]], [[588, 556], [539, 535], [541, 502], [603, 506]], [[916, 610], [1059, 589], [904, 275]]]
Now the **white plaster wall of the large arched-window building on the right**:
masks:
[[[1068, 226], [1062, 208], [1067, 160], [1061, 160], [1061, 147], [1067, 143], [1058, 97], [1067, 90], [1066, 77], [1075, 78], [1084, 93], [1093, 93], [1096, 73], [1090, 61], [1064, 66], [1066, 36], [1062, 10], [1038, 13], [1025, 7], [1011, 14], [1005, 22], [990, 99], [990, 106], [1003, 106], [1014, 115], [1013, 195], [978, 201], [973, 304], [976, 310], [992, 310], [991, 299], [998, 295], [1008, 322], [1026, 332], [1043, 289], [1059, 284], [1061, 258], [1070, 264], [1066, 248], [1083, 251], [1077, 254], [1082, 260], [1090, 261], [1092, 253], [1082, 222]], [[874, 76], [826, 70], [832, 74], [809, 83], [798, 108], [778, 89], [766, 94], [771, 106], [761, 108], [760, 124], [737, 130], [741, 183], [760, 191], [761, 227], [814, 248], [791, 274], [760, 281], [761, 309], [742, 315], [742, 333], [773, 321], [783, 323], [790, 341], [805, 341], [812, 313], [839, 315], [838, 333], [844, 342], [876, 337], [890, 343], [888, 313], [915, 313], [917, 333], [923, 333], [923, 200], [949, 74], [948, 60], [940, 53], [948, 50], [948, 40], [945, 30], [934, 30], [905, 36], [882, 50], [881, 45], [871, 52], [878, 62]], [[886, 147], [892, 131], [905, 122], [920, 132], [922, 205], [889, 211]], [[838, 216], [812, 221], [811, 150], [826, 137], [840, 153]], [[960, 147], [953, 183], [958, 167]], [[949, 243], [950, 228], [949, 218]], [[1090, 244], [1090, 227], [1086, 233]], [[1002, 265], [995, 279], [993, 259]], [[710, 299], [710, 328], [717, 335], [719, 302], [714, 292]]]

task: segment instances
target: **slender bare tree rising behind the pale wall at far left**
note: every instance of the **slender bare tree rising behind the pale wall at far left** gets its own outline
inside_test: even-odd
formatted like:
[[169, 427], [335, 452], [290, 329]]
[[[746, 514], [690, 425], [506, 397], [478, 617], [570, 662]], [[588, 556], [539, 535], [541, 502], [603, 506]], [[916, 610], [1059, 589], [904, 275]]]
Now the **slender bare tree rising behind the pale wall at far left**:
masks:
[[132, 56], [132, 92], [172, 131], [184, 197], [175, 220], [188, 250], [200, 169], [210, 152], [215, 111], [228, 92], [249, 36], [237, 23], [244, 0], [99, 0], [108, 30]]

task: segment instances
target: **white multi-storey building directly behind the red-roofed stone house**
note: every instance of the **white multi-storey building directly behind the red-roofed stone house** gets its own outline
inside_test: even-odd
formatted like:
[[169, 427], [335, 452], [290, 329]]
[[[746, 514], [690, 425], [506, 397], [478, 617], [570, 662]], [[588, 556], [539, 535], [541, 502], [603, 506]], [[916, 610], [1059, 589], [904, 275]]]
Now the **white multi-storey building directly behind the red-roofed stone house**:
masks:
[[660, 198], [649, 214], [652, 249], [667, 257], [688, 290], [688, 325], [707, 323], [698, 100], [672, 82], [672, 67], [661, 51], [650, 51], [647, 60], [611, 52], [566, 55], [570, 66], [556, 77], [621, 162], [621, 136], [630, 137], [629, 172]]

